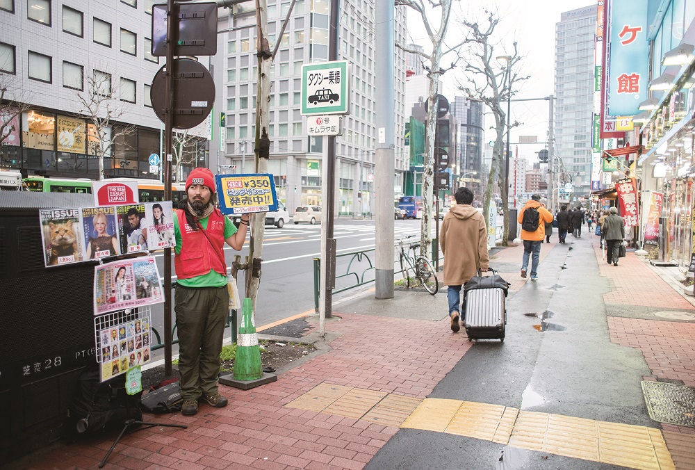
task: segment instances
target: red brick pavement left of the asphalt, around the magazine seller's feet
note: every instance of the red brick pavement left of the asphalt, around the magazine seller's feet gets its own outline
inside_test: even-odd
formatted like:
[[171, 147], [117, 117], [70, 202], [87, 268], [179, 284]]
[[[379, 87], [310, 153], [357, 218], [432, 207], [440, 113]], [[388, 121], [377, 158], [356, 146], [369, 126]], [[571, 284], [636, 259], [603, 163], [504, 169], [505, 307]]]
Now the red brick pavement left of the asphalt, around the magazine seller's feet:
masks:
[[[322, 382], [425, 398], [471, 347], [448, 320], [433, 322], [339, 314], [327, 332], [342, 335], [329, 353], [240, 391], [220, 387], [227, 407], [196, 416], [146, 415], [186, 430], [151, 428], [122, 439], [109, 469], [361, 469], [398, 428], [286, 408]], [[96, 468], [111, 438], [61, 446], [28, 461], [35, 469]]]

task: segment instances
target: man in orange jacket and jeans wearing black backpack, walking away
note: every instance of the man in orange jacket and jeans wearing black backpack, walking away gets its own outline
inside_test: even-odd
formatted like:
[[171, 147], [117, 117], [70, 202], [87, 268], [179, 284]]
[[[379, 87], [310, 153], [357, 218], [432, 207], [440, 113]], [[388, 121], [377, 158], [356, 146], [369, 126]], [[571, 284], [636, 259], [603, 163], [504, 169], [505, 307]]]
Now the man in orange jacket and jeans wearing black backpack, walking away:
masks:
[[523, 240], [523, 261], [521, 277], [526, 277], [528, 259], [531, 257], [531, 280], [538, 279], [538, 261], [541, 257], [541, 242], [546, 236], [546, 223], [553, 222], [553, 214], [539, 201], [541, 196], [534, 194], [526, 202], [516, 221], [521, 224], [521, 239]]

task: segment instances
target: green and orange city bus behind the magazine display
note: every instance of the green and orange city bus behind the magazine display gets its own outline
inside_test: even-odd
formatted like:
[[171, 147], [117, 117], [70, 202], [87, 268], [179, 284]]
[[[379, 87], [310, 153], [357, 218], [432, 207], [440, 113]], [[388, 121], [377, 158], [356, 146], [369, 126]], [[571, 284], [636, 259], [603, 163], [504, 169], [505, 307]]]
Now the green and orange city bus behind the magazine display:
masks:
[[[133, 181], [129, 178], [111, 178], [104, 181]], [[138, 195], [140, 202], [158, 202], [164, 200], [164, 185], [156, 179], [136, 179], [138, 181]], [[32, 176], [24, 179], [29, 191], [38, 193], [92, 193], [92, 180], [79, 178], [46, 178]], [[185, 183], [172, 184], [172, 202], [174, 208], [186, 195]]]

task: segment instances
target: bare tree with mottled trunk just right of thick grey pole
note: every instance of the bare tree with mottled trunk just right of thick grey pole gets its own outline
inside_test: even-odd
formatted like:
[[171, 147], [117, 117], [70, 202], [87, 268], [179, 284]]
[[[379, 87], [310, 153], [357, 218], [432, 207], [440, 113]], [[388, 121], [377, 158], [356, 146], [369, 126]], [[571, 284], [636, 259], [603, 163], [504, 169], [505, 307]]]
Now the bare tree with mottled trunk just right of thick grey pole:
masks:
[[395, 46], [402, 51], [417, 54], [423, 58], [423, 66], [427, 71], [427, 76], [430, 78], [430, 92], [429, 97], [427, 97], [427, 128], [425, 129], [426, 145], [423, 175], [423, 204], [425, 207], [423, 208], [423, 219], [420, 230], [420, 251], [423, 256], [430, 257], [430, 249], [432, 245], [432, 238], [430, 237], [430, 220], [432, 220], [432, 179], [434, 176], [434, 132], [436, 129], [437, 119], [437, 88], [439, 85], [439, 77], [456, 66], [459, 56], [457, 54], [457, 58], [446, 69], [443, 69], [440, 63], [444, 56], [451, 52], [458, 51], [458, 49], [465, 44], [466, 41], [443, 51], [442, 47], [445, 46], [444, 39], [448, 30], [449, 19], [451, 17], [452, 0], [428, 0], [427, 3], [431, 10], [439, 10], [439, 27], [437, 28], [435, 28], [432, 25], [432, 22], [430, 22], [430, 18], [427, 15], [427, 10], [425, 9], [425, 3], [423, 0], [395, 0], [396, 6], [407, 6], [415, 10], [420, 15], [423, 20], [425, 30], [427, 31], [427, 35], [430, 36], [430, 41], [432, 42], [432, 51], [425, 53], [424, 51], [420, 51], [418, 49], [406, 47], [404, 44], [398, 44], [398, 42], [396, 42]]

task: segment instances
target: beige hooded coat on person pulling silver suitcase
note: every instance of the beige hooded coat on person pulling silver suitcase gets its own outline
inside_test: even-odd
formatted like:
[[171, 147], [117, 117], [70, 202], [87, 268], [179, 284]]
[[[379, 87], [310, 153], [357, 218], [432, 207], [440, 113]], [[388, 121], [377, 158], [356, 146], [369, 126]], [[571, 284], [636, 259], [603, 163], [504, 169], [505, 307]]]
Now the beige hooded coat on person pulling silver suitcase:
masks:
[[446, 213], [439, 246], [444, 254], [444, 284], [448, 286], [466, 284], [479, 268], [485, 272], [490, 266], [485, 219], [468, 204], [457, 204]]

